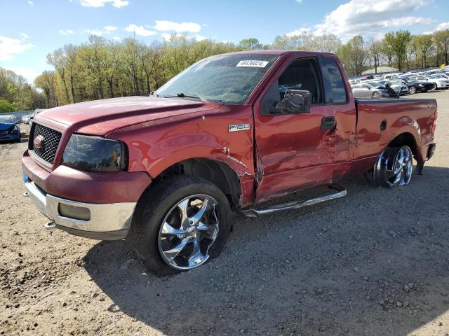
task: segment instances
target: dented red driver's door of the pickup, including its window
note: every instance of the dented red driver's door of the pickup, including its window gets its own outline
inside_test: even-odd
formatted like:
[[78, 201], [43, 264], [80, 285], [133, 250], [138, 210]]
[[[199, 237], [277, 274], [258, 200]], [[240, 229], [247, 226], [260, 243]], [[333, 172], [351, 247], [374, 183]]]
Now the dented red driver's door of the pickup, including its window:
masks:
[[[286, 90], [311, 92], [310, 112], [271, 114], [270, 106], [280, 102]], [[332, 182], [335, 132], [323, 130], [321, 124], [323, 118], [334, 118], [335, 109], [323, 102], [317, 59], [302, 57], [277, 71], [255, 103], [257, 202]]]

